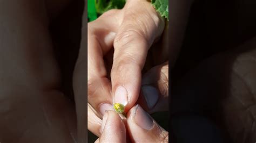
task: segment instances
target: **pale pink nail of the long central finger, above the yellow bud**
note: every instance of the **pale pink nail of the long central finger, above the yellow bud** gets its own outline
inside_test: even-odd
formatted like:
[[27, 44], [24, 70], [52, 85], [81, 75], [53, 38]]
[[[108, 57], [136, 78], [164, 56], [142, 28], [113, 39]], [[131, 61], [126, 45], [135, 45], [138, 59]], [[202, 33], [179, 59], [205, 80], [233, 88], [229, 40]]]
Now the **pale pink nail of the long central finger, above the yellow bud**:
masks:
[[128, 95], [127, 90], [123, 86], [119, 86], [114, 93], [114, 103], [121, 103], [127, 105]]

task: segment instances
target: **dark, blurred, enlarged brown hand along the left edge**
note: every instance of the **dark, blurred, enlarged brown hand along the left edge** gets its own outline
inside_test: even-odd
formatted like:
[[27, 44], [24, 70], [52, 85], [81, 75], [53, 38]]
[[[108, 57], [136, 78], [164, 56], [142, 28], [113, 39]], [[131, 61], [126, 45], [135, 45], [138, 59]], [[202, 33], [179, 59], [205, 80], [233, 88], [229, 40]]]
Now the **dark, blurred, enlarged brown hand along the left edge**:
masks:
[[59, 90], [48, 31], [55, 12], [46, 6], [0, 2], [0, 142], [76, 142], [75, 107]]

